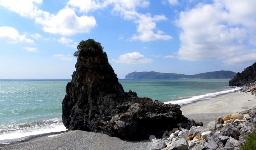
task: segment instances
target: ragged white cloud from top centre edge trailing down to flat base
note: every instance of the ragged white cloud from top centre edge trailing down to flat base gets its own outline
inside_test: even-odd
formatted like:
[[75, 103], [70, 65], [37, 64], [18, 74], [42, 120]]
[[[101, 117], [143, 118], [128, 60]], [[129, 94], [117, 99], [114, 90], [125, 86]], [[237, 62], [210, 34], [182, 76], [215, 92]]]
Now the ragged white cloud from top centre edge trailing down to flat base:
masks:
[[140, 40], [144, 42], [156, 40], [169, 40], [172, 37], [161, 30], [156, 30], [156, 22], [167, 20], [164, 15], [140, 14], [137, 7], [147, 7], [150, 4], [147, 0], [70, 0], [68, 5], [78, 8], [80, 12], [88, 13], [97, 9], [112, 6], [112, 14], [120, 15], [124, 19], [132, 20], [137, 26], [137, 34], [133, 34], [128, 40]]

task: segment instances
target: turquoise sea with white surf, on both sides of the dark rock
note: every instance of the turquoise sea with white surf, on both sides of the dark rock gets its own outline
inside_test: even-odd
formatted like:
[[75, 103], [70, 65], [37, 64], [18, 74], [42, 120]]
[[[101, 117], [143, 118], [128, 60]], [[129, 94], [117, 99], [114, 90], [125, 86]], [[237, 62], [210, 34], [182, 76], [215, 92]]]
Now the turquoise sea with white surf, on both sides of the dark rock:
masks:
[[[238, 90], [230, 79], [119, 79], [139, 97], [180, 105]], [[61, 102], [71, 79], [0, 80], [0, 144], [66, 131]]]

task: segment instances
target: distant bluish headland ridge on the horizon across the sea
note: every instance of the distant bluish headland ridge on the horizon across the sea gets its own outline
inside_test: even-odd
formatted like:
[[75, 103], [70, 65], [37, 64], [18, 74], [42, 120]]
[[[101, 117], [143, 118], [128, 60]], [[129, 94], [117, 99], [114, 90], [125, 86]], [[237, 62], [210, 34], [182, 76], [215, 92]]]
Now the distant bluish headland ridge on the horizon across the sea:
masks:
[[233, 71], [214, 71], [199, 73], [195, 75], [185, 75], [176, 73], [160, 73], [160, 72], [132, 72], [125, 76], [125, 79], [182, 79], [182, 78], [200, 78], [200, 79], [231, 79], [237, 73]]

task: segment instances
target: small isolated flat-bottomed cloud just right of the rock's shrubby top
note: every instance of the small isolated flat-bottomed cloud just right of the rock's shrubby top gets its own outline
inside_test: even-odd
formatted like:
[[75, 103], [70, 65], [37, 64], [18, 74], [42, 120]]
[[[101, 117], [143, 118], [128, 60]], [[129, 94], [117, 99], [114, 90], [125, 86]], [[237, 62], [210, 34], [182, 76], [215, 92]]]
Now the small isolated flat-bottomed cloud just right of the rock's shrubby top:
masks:
[[117, 63], [137, 64], [137, 63], [152, 63], [154, 60], [145, 58], [144, 55], [135, 51], [132, 53], [120, 55], [117, 60], [113, 59], [112, 61]]

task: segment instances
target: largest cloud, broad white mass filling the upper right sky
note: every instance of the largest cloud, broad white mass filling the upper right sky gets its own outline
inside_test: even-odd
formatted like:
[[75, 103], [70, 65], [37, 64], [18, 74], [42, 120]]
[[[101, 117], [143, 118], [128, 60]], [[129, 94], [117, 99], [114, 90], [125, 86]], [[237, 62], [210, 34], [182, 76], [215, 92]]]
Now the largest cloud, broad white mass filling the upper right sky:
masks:
[[[214, 0], [198, 4], [180, 13], [176, 20], [181, 28], [179, 59], [221, 60], [225, 64], [256, 59], [256, 1]], [[253, 62], [254, 62], [253, 61]]]

